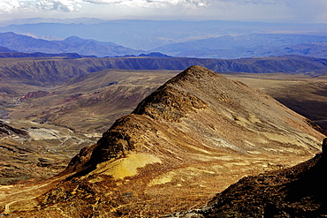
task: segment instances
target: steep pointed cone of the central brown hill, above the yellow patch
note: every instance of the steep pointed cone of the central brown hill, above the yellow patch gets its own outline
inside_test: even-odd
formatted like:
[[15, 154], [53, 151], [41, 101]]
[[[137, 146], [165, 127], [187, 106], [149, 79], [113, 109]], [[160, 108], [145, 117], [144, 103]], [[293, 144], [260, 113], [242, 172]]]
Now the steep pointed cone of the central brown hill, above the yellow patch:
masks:
[[[303, 129], [307, 129], [303, 134], [310, 136], [293, 139], [293, 134]], [[209, 149], [206, 159], [231, 153], [308, 154], [318, 151], [317, 147], [312, 149], [315, 138], [322, 139], [322, 135], [310, 128], [304, 117], [269, 95], [194, 65], [160, 86], [132, 114], [104, 132], [87, 166], [145, 150], [169, 162], [195, 162], [199, 157], [190, 147]], [[283, 149], [285, 143], [293, 148]], [[173, 155], [166, 155], [166, 149]]]

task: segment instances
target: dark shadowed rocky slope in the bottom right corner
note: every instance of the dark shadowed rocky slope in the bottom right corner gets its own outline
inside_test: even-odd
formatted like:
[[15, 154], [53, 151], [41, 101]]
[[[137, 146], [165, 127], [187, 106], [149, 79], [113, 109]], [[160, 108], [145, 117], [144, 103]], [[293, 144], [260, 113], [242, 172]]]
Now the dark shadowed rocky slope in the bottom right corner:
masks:
[[173, 217], [325, 217], [325, 152], [293, 168], [242, 178], [207, 207]]

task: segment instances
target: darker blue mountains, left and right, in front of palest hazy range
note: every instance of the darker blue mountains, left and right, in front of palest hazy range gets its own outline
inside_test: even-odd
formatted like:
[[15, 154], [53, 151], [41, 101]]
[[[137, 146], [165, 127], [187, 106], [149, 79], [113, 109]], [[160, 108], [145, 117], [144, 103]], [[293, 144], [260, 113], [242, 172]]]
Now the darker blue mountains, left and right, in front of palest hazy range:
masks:
[[[327, 57], [327, 36], [296, 34], [247, 34], [220, 36], [202, 40], [170, 43], [151, 50], [129, 49], [113, 42], [85, 40], [70, 36], [62, 41], [36, 39], [12, 32], [0, 34], [0, 52], [76, 53], [81, 56], [184, 56], [198, 58], [235, 59], [252, 56], [314, 56]], [[75, 58], [78, 56], [74, 55]], [[166, 54], [166, 55], [164, 55]], [[1, 57], [41, 56], [40, 54], [11, 54]], [[42, 56], [51, 56], [42, 54]], [[73, 57], [72, 55], [69, 55]], [[152, 56], [152, 55], [150, 55]]]

